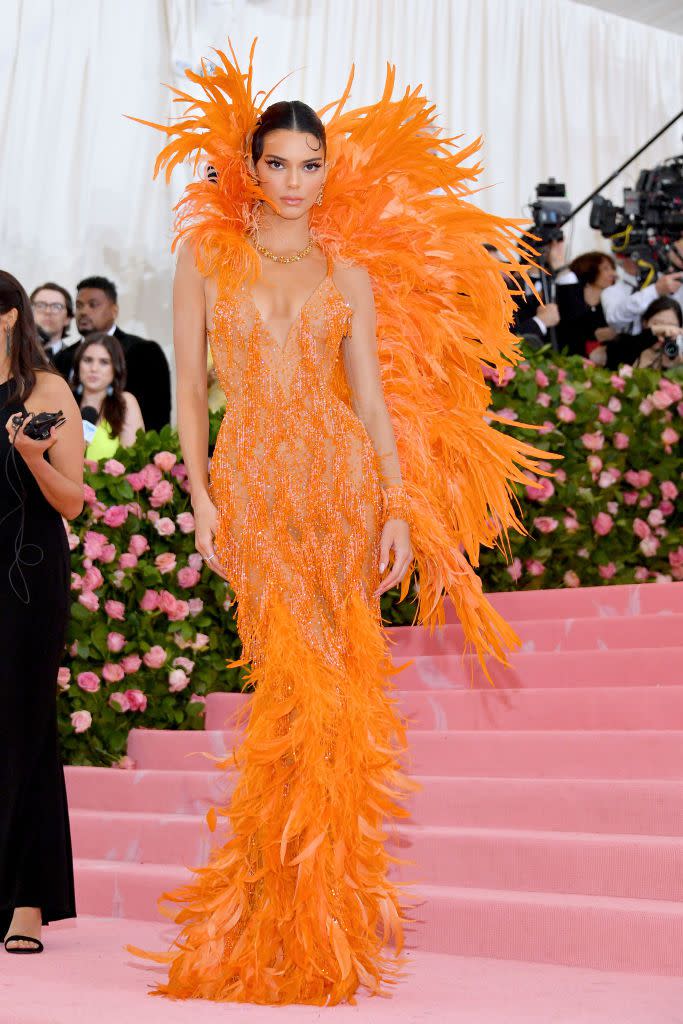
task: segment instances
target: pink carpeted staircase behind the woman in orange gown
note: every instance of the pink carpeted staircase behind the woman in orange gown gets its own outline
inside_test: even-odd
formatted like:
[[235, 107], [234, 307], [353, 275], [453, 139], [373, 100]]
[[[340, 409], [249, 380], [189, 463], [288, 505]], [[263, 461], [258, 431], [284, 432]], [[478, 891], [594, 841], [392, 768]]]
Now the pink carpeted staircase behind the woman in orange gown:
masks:
[[[422, 783], [394, 849], [420, 902], [409, 944], [683, 975], [683, 584], [502, 594], [522, 639], [492, 688], [455, 624], [397, 629]], [[79, 912], [158, 919], [215, 842], [206, 810], [243, 699], [206, 732], [135, 729], [130, 771], [68, 768]]]

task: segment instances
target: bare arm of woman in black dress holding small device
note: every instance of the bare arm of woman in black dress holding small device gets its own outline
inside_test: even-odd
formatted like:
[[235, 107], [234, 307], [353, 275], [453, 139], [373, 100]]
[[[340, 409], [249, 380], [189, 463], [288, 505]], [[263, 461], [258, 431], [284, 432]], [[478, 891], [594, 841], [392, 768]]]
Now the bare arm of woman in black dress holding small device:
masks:
[[[38, 372], [36, 386], [25, 402], [29, 413], [55, 413], [60, 409], [67, 422], [53, 427], [46, 441], [27, 437], [22, 427], [15, 446], [45, 499], [66, 519], [75, 519], [83, 509], [83, 421], [71, 388], [57, 374]], [[15, 427], [7, 421], [9, 436]], [[49, 451], [49, 462], [43, 453]]]

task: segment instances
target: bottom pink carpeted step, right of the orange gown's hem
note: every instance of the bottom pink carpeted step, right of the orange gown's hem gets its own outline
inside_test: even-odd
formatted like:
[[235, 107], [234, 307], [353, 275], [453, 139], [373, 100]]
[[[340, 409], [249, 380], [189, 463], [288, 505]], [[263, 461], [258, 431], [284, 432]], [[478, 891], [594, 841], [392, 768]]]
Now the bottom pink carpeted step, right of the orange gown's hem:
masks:
[[420, 893], [409, 943], [421, 949], [683, 974], [683, 903], [441, 886]]

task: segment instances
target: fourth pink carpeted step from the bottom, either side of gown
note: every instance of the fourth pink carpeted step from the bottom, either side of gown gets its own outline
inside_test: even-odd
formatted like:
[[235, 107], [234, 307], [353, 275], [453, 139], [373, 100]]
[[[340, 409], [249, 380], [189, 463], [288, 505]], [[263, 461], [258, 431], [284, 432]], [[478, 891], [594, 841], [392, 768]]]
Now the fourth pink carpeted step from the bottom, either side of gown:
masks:
[[[133, 729], [128, 753], [138, 768], [206, 770], [232, 750], [236, 733]], [[683, 732], [422, 731], [410, 733], [407, 768], [418, 775], [535, 778], [683, 778]]]

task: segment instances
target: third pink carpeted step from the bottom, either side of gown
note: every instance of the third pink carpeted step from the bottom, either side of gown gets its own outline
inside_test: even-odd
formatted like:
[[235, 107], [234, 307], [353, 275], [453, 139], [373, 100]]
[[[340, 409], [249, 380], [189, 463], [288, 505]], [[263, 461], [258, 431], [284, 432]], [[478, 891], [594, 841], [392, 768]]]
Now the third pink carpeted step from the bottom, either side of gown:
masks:
[[[233, 776], [68, 766], [69, 804], [78, 809], [206, 814], [224, 806]], [[672, 779], [555, 779], [417, 776], [410, 802], [421, 825], [683, 836], [683, 786]]]

